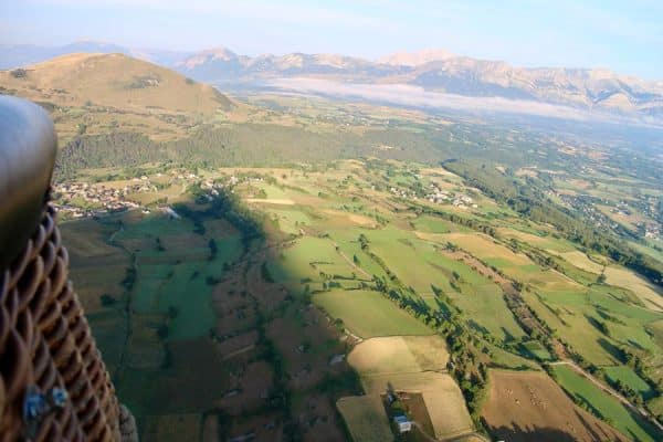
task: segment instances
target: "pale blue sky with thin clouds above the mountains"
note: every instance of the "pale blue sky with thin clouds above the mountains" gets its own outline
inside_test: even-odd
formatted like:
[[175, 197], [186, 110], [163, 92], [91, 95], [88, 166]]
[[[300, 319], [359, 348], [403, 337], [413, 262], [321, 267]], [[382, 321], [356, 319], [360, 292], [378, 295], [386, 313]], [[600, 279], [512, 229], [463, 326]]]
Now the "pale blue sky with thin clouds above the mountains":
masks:
[[661, 0], [0, 0], [0, 44], [82, 40], [378, 59], [444, 49], [663, 80]]

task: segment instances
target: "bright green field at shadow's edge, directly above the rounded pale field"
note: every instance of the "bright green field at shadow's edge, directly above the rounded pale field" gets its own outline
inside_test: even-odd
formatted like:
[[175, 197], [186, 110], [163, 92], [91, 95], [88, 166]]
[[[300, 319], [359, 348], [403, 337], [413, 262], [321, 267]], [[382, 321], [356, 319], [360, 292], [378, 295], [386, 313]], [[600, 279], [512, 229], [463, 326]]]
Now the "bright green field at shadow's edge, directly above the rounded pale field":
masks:
[[377, 292], [332, 291], [314, 295], [315, 304], [362, 338], [431, 335], [432, 330]]

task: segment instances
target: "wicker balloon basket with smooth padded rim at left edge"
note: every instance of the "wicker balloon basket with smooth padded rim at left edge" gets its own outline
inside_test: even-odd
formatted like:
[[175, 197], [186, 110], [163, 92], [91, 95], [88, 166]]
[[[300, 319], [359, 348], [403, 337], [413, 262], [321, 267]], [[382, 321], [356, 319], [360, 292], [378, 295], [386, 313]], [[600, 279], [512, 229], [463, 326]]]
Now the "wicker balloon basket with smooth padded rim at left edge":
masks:
[[0, 96], [0, 442], [136, 441], [44, 202], [54, 156], [48, 115]]

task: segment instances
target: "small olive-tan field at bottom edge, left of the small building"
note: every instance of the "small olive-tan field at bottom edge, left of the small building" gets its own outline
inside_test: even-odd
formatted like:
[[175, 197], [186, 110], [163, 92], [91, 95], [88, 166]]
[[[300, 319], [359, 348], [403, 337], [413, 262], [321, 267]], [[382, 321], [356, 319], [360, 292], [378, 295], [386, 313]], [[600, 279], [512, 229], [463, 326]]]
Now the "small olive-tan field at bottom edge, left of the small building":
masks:
[[336, 407], [355, 442], [393, 441], [380, 394], [340, 398]]

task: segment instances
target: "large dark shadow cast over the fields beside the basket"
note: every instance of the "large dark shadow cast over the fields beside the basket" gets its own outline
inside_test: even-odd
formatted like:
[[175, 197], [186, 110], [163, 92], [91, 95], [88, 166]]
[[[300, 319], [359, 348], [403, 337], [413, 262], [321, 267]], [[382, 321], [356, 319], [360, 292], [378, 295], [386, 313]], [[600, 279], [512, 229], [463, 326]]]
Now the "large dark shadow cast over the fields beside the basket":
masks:
[[[347, 439], [335, 403], [362, 390], [345, 360], [332, 360], [349, 344], [313, 306], [299, 275], [284, 266], [278, 278], [265, 273], [292, 238], [232, 194], [192, 196], [171, 210], [94, 221], [99, 253], [124, 253], [126, 270], [106, 274], [103, 285], [118, 293], [113, 302], [81, 292], [140, 439]], [[66, 224], [75, 240], [83, 224]], [[104, 262], [91, 261], [91, 280], [84, 248], [71, 243], [74, 284], [93, 287]]]

